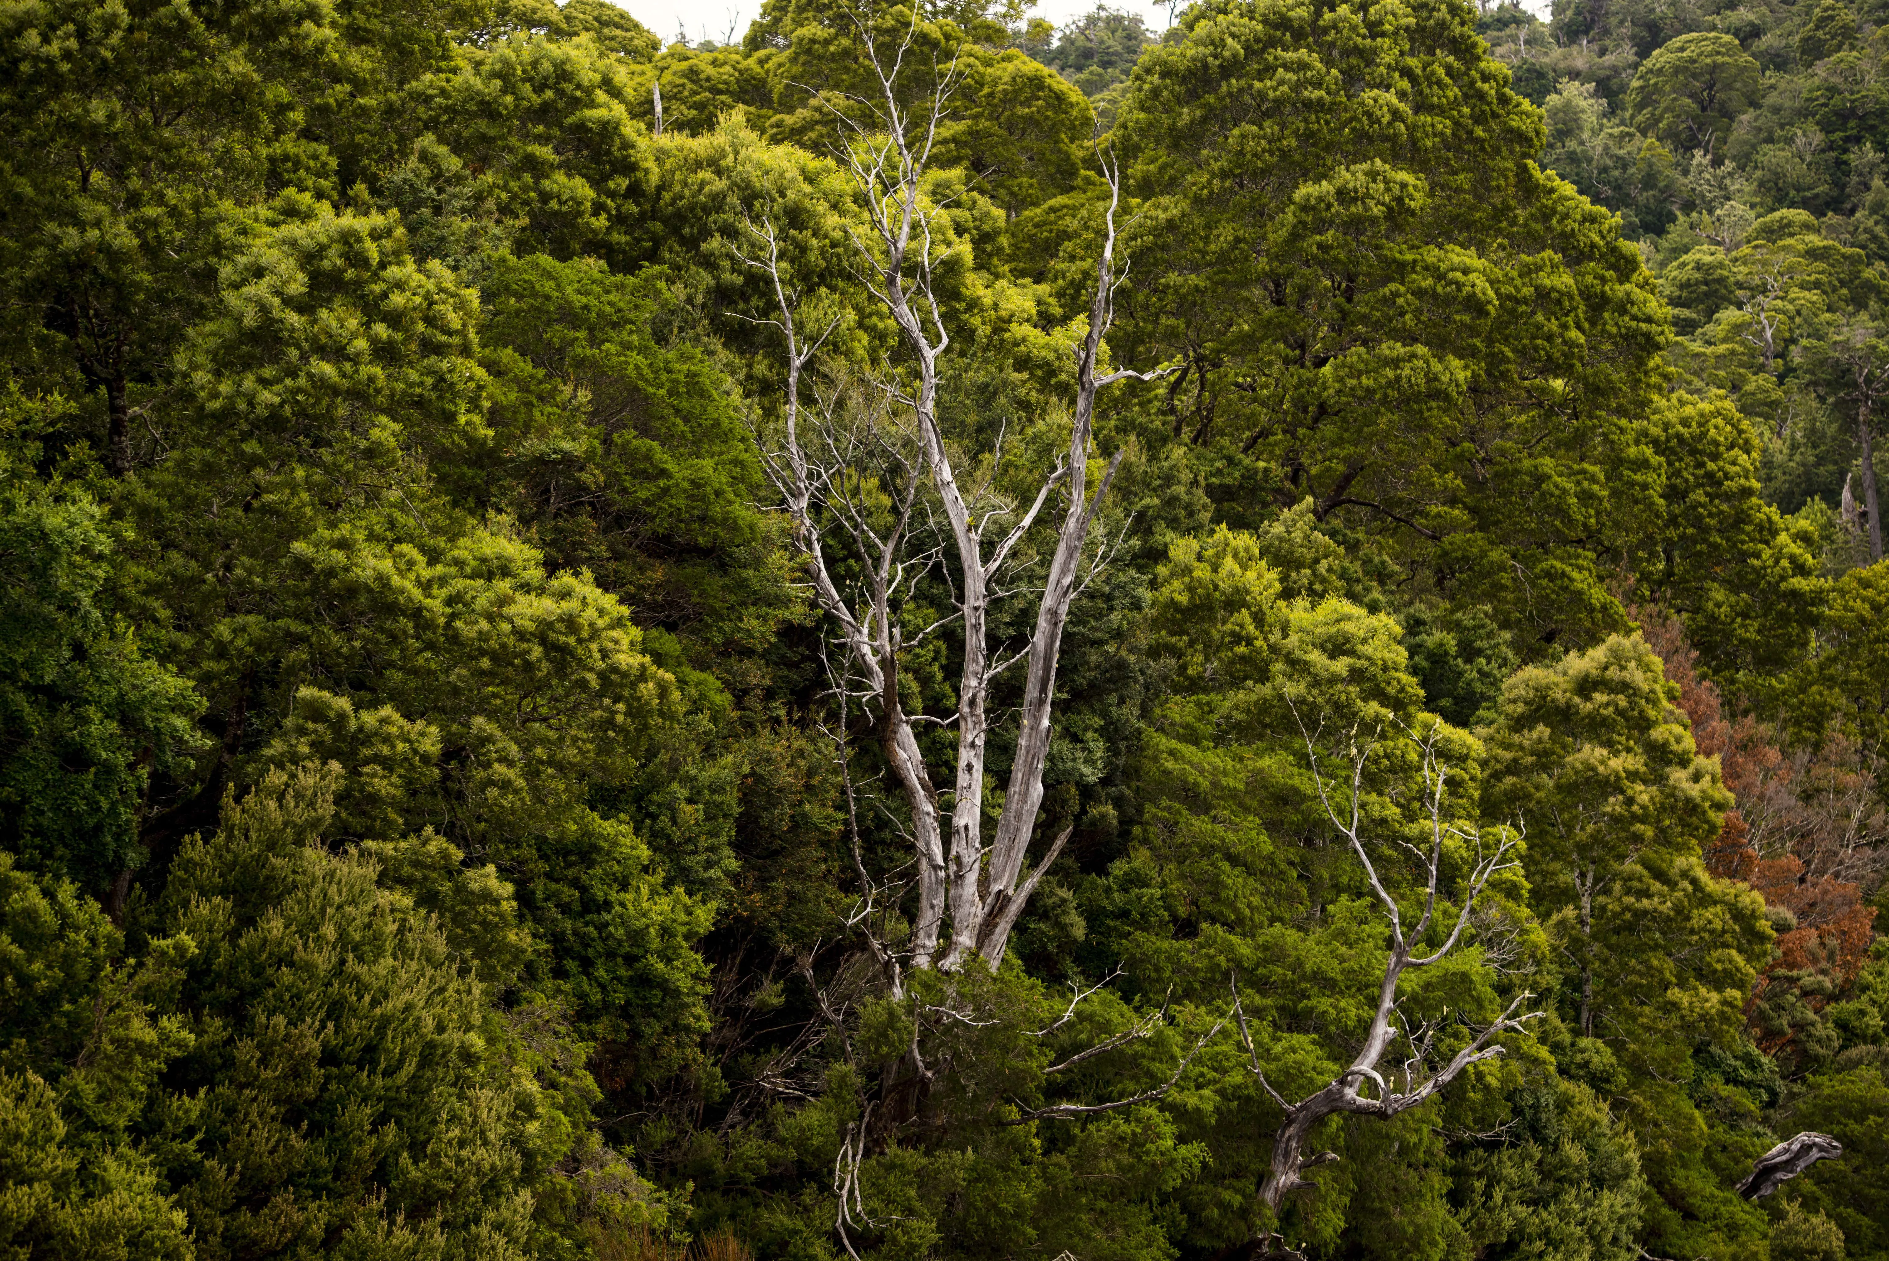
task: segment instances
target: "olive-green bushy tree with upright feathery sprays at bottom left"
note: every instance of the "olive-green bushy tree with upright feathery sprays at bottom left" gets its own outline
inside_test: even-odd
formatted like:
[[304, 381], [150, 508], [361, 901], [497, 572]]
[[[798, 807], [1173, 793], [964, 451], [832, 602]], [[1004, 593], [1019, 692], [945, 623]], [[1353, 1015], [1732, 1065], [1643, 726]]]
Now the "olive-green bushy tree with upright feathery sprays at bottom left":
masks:
[[191, 1106], [166, 1153], [198, 1253], [355, 1238], [521, 1255], [525, 1187], [569, 1121], [508, 1063], [444, 938], [368, 863], [310, 846], [332, 782], [276, 776], [229, 806], [153, 908], [151, 929], [198, 948], [181, 987], [195, 1042], [170, 1070]]

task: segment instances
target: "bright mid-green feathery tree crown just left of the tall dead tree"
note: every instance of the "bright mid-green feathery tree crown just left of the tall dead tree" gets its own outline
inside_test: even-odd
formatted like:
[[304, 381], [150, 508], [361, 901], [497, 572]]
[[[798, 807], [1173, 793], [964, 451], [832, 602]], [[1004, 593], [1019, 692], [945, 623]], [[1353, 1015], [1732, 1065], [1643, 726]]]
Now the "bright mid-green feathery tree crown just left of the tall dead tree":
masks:
[[674, 310], [661, 272], [501, 257], [484, 296], [495, 451], [478, 498], [705, 663], [765, 647], [793, 598], [754, 510], [754, 446], [706, 357], [655, 342]]

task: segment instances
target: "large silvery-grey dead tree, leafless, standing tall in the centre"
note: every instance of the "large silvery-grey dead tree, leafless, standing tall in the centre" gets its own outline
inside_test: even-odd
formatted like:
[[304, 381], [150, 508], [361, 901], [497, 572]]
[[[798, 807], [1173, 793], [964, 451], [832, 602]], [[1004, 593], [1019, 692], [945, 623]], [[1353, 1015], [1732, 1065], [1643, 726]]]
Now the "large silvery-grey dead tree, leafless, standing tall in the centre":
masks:
[[[865, 19], [856, 15], [856, 21], [875, 92], [846, 96], [842, 108], [833, 108], [842, 140], [839, 160], [865, 211], [854, 234], [856, 274], [897, 327], [905, 368], [899, 374], [886, 368], [867, 381], [867, 402], [859, 402], [858, 391], [846, 398], [841, 389], [812, 387], [808, 368], [835, 325], [812, 334], [801, 328], [799, 294], [784, 274], [776, 228], [769, 217], [752, 215], [756, 247], [744, 261], [771, 277], [776, 298], [774, 315], [757, 323], [776, 327], [786, 342], [784, 427], [776, 440], [761, 440], [759, 449], [814, 600], [837, 629], [844, 668], [835, 685], [873, 710], [909, 806], [909, 823], [901, 827], [909, 829], [918, 900], [910, 940], [899, 953], [918, 968], [958, 970], [973, 955], [996, 967], [1031, 891], [1071, 832], [1064, 829], [1030, 866], [1064, 627], [1075, 597], [1105, 559], [1090, 544], [1122, 459], [1116, 453], [1109, 461], [1090, 495], [1096, 398], [1115, 381], [1147, 381], [1162, 372], [1099, 368], [1122, 283], [1115, 264], [1120, 177], [1105, 155], [1105, 234], [1088, 330], [1075, 347], [1067, 447], [1028, 500], [1005, 496], [996, 485], [1001, 438], [980, 479], [967, 483], [939, 421], [939, 385], [952, 338], [937, 276], [950, 245], [948, 234], [937, 230], [943, 208], [924, 191], [939, 125], [962, 76], [956, 66], [933, 64], [929, 91], [909, 106], [901, 76], [909, 74], [909, 59], [916, 59], [912, 32], [884, 49]], [[1030, 572], [1020, 546], [1045, 513], [1056, 512], [1062, 519], [1047, 566]], [[935, 523], [933, 513], [943, 517], [943, 529], [922, 529]], [[852, 551], [858, 581], [835, 578], [829, 530]], [[907, 634], [901, 612], [916, 583], [935, 572], [950, 583], [954, 610]], [[992, 632], [992, 608], [1028, 595], [1037, 598], [1035, 627], [1024, 644], [1007, 646]], [[901, 653], [950, 625], [962, 636], [958, 710], [948, 717], [907, 714], [899, 698]], [[986, 753], [997, 721], [992, 685], [1016, 666], [1024, 670], [1016, 755], [996, 834], [986, 834]], [[922, 723], [956, 734], [948, 785], [933, 782], [920, 751]]]

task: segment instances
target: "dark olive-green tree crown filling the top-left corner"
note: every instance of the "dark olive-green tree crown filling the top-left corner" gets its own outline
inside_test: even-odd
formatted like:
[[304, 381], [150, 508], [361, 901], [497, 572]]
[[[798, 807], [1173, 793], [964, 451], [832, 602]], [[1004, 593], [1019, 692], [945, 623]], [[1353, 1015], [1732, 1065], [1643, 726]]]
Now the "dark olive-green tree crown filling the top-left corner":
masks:
[[8, 342], [119, 472], [132, 413], [212, 308], [242, 211], [293, 183], [334, 194], [298, 79], [332, 47], [323, 6], [191, 9], [49, 0], [8, 9], [0, 111]]

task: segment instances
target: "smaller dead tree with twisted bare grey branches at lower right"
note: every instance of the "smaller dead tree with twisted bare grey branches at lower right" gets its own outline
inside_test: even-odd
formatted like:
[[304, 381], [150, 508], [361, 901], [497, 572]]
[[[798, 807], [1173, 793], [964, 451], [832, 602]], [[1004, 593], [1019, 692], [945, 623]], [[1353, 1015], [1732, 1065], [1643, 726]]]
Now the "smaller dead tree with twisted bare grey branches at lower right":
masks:
[[[1294, 715], [1298, 715], [1296, 708]], [[1438, 1063], [1436, 1044], [1438, 1036], [1445, 1031], [1443, 1021], [1422, 1019], [1413, 1023], [1400, 1008], [1398, 985], [1402, 984], [1404, 974], [1413, 968], [1430, 967], [1456, 950], [1464, 940], [1464, 931], [1472, 927], [1477, 899], [1483, 895], [1489, 880], [1496, 872], [1519, 865], [1511, 857], [1519, 842], [1519, 832], [1507, 827], [1485, 831], [1449, 819], [1449, 806], [1445, 800], [1449, 766], [1438, 748], [1441, 725], [1432, 723], [1421, 732], [1405, 729], [1396, 736], [1407, 740], [1417, 749], [1422, 772], [1422, 810], [1428, 823], [1428, 844], [1417, 846], [1404, 838], [1390, 842], [1415, 861], [1417, 874], [1424, 882], [1422, 910], [1409, 925], [1404, 923], [1404, 908], [1400, 906], [1398, 897], [1385, 883], [1379, 863], [1371, 859], [1371, 851], [1381, 849], [1383, 842], [1366, 838], [1366, 772], [1371, 757], [1383, 744], [1381, 732], [1364, 732], [1360, 727], [1353, 727], [1345, 732], [1341, 740], [1347, 761], [1345, 776], [1332, 778], [1320, 765], [1320, 732], [1307, 729], [1303, 721], [1300, 721], [1300, 731], [1305, 736], [1305, 753], [1311, 761], [1313, 782], [1319, 787], [1319, 800], [1324, 806], [1324, 814], [1332, 821], [1332, 827], [1337, 829], [1337, 832], [1349, 842], [1353, 855], [1364, 866], [1371, 893], [1377, 897], [1377, 902], [1385, 910], [1385, 917], [1390, 921], [1390, 955], [1385, 959], [1385, 972], [1377, 987], [1377, 1004], [1371, 1012], [1371, 1023], [1364, 1034], [1364, 1042], [1353, 1055], [1351, 1065], [1324, 1087], [1298, 1101], [1286, 1099], [1273, 1089], [1271, 1082], [1266, 1080], [1258, 1048], [1254, 1046], [1252, 1033], [1247, 1027], [1245, 1010], [1239, 1006], [1239, 984], [1237, 980], [1234, 982], [1234, 1014], [1239, 1025], [1241, 1042], [1245, 1042], [1247, 1055], [1251, 1059], [1252, 1074], [1260, 1080], [1260, 1085], [1273, 1099], [1273, 1102], [1285, 1112], [1285, 1121], [1273, 1136], [1271, 1165], [1268, 1167], [1266, 1182], [1260, 1187], [1260, 1199], [1266, 1201], [1275, 1216], [1290, 1191], [1309, 1185], [1303, 1178], [1307, 1169], [1337, 1159], [1332, 1152], [1320, 1152], [1317, 1155], [1307, 1155], [1305, 1152], [1305, 1144], [1320, 1121], [1339, 1114], [1388, 1119], [1400, 1112], [1415, 1108], [1455, 1082], [1456, 1076], [1460, 1076], [1470, 1065], [1502, 1055], [1502, 1046], [1494, 1042], [1496, 1034], [1519, 1031], [1524, 1021], [1540, 1016], [1540, 1012], [1517, 1016], [1523, 1004], [1534, 997], [1530, 993], [1521, 993], [1513, 1002], [1509, 1002], [1507, 1010], [1504, 1010], [1494, 1023], [1475, 1031], [1466, 1046]], [[1489, 834], [1490, 831], [1494, 832], [1492, 838]], [[1424, 934], [1430, 931], [1432, 923], [1436, 923], [1438, 899], [1443, 897], [1441, 882], [1445, 842], [1449, 840], [1464, 842], [1475, 857], [1464, 883], [1464, 899], [1462, 906], [1456, 910], [1455, 925], [1438, 946], [1424, 951]], [[1385, 1057], [1394, 1048], [1402, 1050], [1404, 1061], [1402, 1065], [1387, 1068]]]

